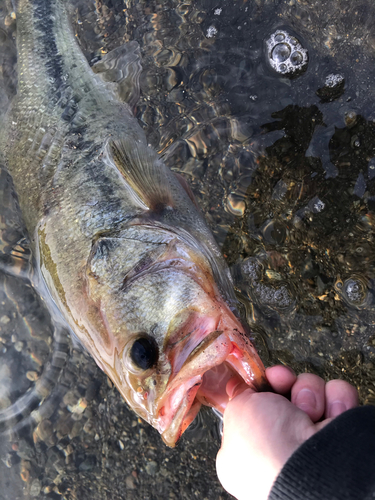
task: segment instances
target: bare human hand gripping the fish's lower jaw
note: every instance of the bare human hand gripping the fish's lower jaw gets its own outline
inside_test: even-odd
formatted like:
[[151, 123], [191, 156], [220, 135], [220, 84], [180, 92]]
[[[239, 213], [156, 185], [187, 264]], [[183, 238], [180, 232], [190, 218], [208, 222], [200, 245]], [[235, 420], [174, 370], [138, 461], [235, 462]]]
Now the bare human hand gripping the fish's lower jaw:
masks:
[[[292, 453], [333, 418], [358, 406], [357, 390], [343, 380], [298, 377], [285, 366], [266, 370], [275, 391], [254, 392], [231, 379], [216, 469], [224, 488], [239, 500], [266, 500]], [[291, 394], [290, 401], [285, 394]], [[324, 417], [323, 420], [322, 417]]]

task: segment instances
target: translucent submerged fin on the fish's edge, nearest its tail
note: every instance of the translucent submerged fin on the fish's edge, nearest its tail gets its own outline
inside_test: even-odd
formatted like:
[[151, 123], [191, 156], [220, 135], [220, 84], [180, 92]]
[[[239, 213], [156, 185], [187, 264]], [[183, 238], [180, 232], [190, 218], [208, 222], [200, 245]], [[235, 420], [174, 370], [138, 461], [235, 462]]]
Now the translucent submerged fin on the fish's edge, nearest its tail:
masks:
[[113, 84], [118, 97], [133, 108], [139, 99], [141, 51], [137, 42], [128, 42], [108, 52], [92, 66], [105, 82]]

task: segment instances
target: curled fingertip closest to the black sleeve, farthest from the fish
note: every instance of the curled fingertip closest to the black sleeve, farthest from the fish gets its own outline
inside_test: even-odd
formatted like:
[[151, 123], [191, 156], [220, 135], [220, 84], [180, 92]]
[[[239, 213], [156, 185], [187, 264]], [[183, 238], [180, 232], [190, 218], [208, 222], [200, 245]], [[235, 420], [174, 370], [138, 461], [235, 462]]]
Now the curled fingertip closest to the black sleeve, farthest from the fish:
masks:
[[330, 380], [325, 388], [327, 418], [334, 418], [358, 406], [358, 391], [345, 380]]

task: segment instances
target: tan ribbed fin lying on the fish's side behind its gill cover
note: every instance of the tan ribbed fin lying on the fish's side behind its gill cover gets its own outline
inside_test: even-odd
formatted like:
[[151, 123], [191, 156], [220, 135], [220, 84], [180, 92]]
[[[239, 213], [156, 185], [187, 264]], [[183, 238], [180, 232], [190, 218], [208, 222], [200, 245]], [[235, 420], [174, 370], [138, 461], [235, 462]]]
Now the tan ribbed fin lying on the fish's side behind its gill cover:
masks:
[[109, 148], [116, 167], [150, 210], [174, 208], [172, 173], [155, 151], [145, 142], [128, 137], [110, 141]]

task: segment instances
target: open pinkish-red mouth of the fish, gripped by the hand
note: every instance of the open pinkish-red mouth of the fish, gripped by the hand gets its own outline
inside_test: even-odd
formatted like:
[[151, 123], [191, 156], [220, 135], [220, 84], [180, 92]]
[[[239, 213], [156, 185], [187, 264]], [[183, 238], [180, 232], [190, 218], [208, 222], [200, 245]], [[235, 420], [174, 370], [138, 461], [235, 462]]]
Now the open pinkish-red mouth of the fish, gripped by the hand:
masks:
[[158, 403], [154, 426], [174, 446], [202, 404], [224, 412], [231, 378], [256, 391], [268, 387], [264, 366], [253, 344], [239, 331], [214, 331], [191, 350]]

